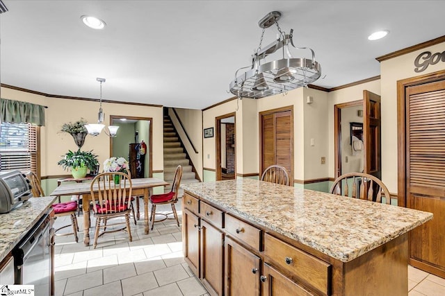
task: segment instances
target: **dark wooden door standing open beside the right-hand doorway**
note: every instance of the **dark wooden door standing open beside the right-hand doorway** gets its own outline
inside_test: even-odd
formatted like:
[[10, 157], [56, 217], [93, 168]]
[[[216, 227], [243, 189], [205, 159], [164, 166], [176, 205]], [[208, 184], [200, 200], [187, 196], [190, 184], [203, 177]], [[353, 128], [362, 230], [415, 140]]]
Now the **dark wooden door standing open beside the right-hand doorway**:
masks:
[[380, 96], [363, 91], [364, 173], [382, 179]]

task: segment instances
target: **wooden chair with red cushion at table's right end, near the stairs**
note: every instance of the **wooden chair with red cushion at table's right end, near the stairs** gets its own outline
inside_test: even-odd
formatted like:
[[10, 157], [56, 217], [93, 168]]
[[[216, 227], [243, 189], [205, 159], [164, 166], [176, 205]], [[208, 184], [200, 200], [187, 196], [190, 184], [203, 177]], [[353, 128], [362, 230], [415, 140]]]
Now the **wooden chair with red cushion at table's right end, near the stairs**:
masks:
[[[172, 190], [169, 193], [163, 194], [154, 194], [150, 196], [149, 203], [152, 204], [152, 214], [150, 216], [150, 220], [152, 221], [152, 230], [155, 222], [161, 222], [168, 218], [169, 214], [173, 214], [175, 216], [177, 225], [179, 227], [179, 219], [176, 213], [175, 203], [178, 201], [178, 191], [179, 191], [179, 183], [181, 182], [182, 177], [182, 166], [177, 166], [175, 171], [175, 177], [173, 178]], [[156, 205], [159, 204], [171, 204], [172, 213], [162, 214], [156, 213]], [[165, 216], [161, 220], [156, 220], [156, 215]]]

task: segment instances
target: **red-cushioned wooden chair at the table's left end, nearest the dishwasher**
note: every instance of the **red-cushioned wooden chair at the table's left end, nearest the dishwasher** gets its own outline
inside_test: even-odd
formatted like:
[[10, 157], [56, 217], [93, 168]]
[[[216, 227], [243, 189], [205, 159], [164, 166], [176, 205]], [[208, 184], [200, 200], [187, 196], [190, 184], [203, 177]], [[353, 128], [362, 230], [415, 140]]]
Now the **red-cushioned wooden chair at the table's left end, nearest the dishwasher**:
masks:
[[[33, 197], [40, 198], [40, 197], [45, 196], [38, 176], [33, 172], [29, 172], [26, 174], [26, 177], [28, 178], [28, 180], [31, 184], [31, 193], [33, 193]], [[77, 202], [76, 201], [58, 202], [56, 204], [52, 204], [52, 207], [54, 209], [55, 217], [62, 217], [62, 216], [69, 215], [71, 218], [71, 225], [69, 224], [69, 225], [59, 227], [58, 229], [56, 229], [54, 231], [54, 234], [56, 234], [57, 236], [67, 236], [70, 234], [74, 234], [74, 240], [77, 243], [79, 241], [79, 238], [77, 237], [77, 232], [79, 232], [79, 225], [77, 225], [77, 218], [76, 218]], [[65, 234], [58, 233], [58, 231], [60, 229], [63, 229], [65, 227], [70, 227], [70, 226], [72, 226], [72, 232], [65, 233]]]

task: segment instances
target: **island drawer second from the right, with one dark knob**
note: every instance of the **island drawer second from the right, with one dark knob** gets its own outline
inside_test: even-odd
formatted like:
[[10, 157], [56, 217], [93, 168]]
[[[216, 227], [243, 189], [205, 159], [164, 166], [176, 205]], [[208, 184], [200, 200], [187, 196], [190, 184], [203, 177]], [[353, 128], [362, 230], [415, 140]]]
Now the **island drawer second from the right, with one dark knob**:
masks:
[[[261, 229], [245, 223], [234, 216], [225, 216], [225, 230], [239, 241], [259, 250], [261, 240]], [[261, 251], [261, 250], [259, 250]]]

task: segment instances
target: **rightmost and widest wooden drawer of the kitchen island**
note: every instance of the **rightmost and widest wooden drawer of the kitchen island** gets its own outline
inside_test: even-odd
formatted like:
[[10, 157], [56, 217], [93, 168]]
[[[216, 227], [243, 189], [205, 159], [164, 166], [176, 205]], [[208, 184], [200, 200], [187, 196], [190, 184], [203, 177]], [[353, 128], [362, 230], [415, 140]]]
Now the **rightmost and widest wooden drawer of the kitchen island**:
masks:
[[[327, 295], [331, 265], [279, 239], [264, 235], [264, 256], [270, 263]], [[269, 261], [265, 259], [265, 261]]]

